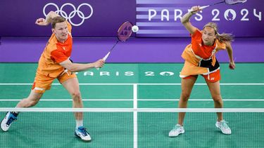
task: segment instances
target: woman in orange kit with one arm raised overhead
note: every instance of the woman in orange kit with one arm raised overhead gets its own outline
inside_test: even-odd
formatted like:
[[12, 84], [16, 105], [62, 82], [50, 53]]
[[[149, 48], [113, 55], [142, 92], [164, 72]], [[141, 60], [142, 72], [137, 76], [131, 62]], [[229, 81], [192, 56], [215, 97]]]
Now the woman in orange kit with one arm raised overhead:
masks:
[[[191, 43], [184, 49], [182, 58], [185, 60], [180, 77], [182, 78], [182, 93], [180, 95], [179, 108], [186, 108], [191, 90], [199, 74], [201, 74], [213, 97], [215, 108], [222, 108], [223, 102], [220, 95], [220, 65], [215, 58], [219, 50], [227, 50], [230, 59], [230, 69], [234, 69], [232, 55], [232, 34], [219, 34], [218, 26], [214, 22], [207, 23], [203, 30], [199, 30], [189, 22], [192, 15], [201, 11], [199, 6], [191, 8], [192, 12], [182, 17], [182, 24], [191, 34]], [[184, 133], [183, 122], [184, 112], [178, 115], [177, 125], [170, 130], [169, 136], [176, 137]], [[218, 119], [215, 123], [222, 133], [230, 135], [231, 130], [223, 119], [222, 113], [218, 112]]]

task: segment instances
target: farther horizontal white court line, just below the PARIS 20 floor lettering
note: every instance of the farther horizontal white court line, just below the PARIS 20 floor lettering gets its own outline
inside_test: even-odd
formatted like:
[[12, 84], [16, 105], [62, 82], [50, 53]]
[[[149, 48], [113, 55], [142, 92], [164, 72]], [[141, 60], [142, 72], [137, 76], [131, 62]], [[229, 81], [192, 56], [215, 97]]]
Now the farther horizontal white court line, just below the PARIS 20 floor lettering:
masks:
[[[33, 83], [0, 83], [0, 86], [31, 86]], [[80, 86], [180, 86], [181, 83], [80, 83]], [[61, 83], [52, 83], [60, 86]], [[195, 86], [206, 86], [206, 83], [195, 83]], [[220, 83], [221, 86], [264, 86], [264, 83]]]

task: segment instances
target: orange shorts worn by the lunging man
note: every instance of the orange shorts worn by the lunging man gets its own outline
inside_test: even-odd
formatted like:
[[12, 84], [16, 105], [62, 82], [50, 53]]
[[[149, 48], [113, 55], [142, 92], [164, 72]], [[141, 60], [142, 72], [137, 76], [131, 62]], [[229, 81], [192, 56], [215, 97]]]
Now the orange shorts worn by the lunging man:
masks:
[[44, 74], [37, 73], [34, 78], [34, 83], [32, 85], [32, 90], [34, 90], [35, 93], [44, 93], [45, 90], [51, 89], [51, 83], [54, 81], [54, 79], [58, 79], [60, 83], [63, 83], [64, 81], [76, 78], [76, 74], [74, 72], [65, 72], [64, 74], [61, 74], [57, 78], [53, 78], [50, 76], [46, 76]]

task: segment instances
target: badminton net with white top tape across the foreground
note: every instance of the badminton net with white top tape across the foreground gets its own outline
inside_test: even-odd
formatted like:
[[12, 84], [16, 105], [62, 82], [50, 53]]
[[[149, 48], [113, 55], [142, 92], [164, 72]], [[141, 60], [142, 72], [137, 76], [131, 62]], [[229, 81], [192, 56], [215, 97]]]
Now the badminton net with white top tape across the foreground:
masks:
[[[1, 147], [263, 147], [264, 109], [105, 109], [105, 108], [0, 108], [20, 112], [7, 132], [0, 132]], [[74, 135], [73, 112], [84, 112], [88, 144]], [[185, 133], [168, 137], [178, 112], [187, 112]], [[232, 130], [224, 135], [215, 127], [215, 112], [224, 112]]]

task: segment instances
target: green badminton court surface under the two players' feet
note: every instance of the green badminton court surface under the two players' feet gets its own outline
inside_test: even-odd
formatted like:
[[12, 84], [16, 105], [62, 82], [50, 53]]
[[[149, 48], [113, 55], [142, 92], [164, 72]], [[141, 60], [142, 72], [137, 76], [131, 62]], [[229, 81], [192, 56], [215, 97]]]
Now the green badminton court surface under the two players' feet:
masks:
[[[15, 105], [30, 93], [35, 63], [0, 63], [0, 107]], [[180, 97], [181, 63], [106, 64], [77, 74], [84, 107], [174, 109]], [[225, 108], [264, 107], [264, 64], [237, 63], [235, 70], [221, 64], [221, 94]], [[134, 106], [134, 102], [137, 106]], [[35, 107], [70, 108], [67, 91], [54, 81]], [[202, 76], [196, 81], [189, 108], [213, 108]], [[5, 112], [0, 112], [4, 118]], [[175, 112], [86, 112], [84, 126], [92, 135], [85, 143], [74, 135], [71, 112], [21, 112], [8, 132], [0, 132], [3, 147], [263, 147], [263, 112], [227, 112], [232, 135], [215, 128], [215, 113], [187, 113], [185, 133], [170, 138]], [[137, 134], [135, 141], [134, 136]]]

